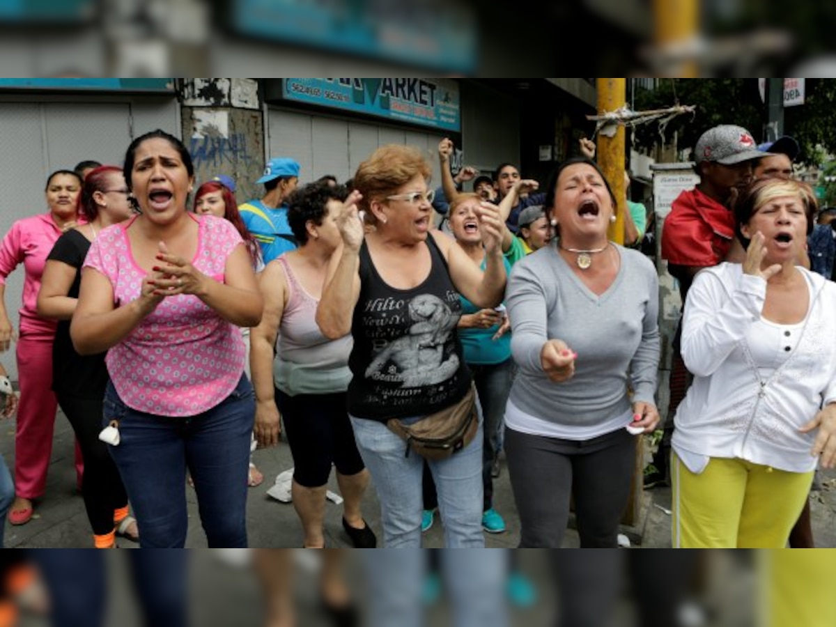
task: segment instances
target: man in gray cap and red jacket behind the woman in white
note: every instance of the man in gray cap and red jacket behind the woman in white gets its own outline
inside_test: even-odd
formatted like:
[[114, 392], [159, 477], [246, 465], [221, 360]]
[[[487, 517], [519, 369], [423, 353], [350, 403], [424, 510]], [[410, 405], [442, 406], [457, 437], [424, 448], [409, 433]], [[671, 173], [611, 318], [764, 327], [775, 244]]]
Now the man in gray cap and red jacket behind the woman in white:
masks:
[[[682, 191], [671, 203], [662, 228], [661, 255], [668, 262], [668, 272], [679, 283], [683, 307], [696, 273], [724, 261], [732, 248], [735, 227], [732, 204], [737, 194], [752, 182], [752, 167], [763, 155], [757, 150], [752, 134], [742, 126], [715, 126], [697, 140], [693, 161], [700, 182], [694, 189]], [[673, 340], [664, 436], [653, 457], [656, 472], [645, 476], [646, 487], [669, 482], [674, 415], [690, 382], [679, 352], [680, 333], [681, 321]]]

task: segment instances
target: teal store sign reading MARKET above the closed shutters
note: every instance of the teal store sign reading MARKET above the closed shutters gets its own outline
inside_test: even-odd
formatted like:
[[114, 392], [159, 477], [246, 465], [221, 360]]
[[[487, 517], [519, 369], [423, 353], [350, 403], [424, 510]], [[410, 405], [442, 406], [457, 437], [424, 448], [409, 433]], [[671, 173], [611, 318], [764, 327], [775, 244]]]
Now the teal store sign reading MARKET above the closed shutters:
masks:
[[461, 131], [459, 88], [446, 79], [284, 79], [283, 96], [309, 104]]

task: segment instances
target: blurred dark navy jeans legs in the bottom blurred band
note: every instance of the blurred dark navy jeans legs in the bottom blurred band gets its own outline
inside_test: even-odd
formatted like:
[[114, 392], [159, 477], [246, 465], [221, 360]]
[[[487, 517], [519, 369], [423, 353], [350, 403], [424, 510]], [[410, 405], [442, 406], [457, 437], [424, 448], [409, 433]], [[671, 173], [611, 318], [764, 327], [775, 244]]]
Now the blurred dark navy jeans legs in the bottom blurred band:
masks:
[[[120, 551], [130, 560], [142, 606], [142, 624], [186, 627], [185, 551]], [[47, 584], [54, 627], [104, 627], [109, 552], [88, 548], [36, 548], [30, 552]], [[112, 573], [110, 575], [113, 576]], [[135, 623], [134, 617], [130, 624]]]

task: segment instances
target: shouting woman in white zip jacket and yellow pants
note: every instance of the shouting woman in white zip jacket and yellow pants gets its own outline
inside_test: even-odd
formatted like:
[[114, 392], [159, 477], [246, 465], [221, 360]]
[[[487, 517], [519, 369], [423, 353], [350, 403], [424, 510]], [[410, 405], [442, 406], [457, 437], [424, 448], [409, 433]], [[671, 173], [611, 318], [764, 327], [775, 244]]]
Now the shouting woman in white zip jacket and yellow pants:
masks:
[[815, 207], [803, 183], [754, 183], [735, 208], [745, 261], [688, 293], [674, 547], [784, 548], [819, 457], [836, 461], [836, 285], [795, 265]]

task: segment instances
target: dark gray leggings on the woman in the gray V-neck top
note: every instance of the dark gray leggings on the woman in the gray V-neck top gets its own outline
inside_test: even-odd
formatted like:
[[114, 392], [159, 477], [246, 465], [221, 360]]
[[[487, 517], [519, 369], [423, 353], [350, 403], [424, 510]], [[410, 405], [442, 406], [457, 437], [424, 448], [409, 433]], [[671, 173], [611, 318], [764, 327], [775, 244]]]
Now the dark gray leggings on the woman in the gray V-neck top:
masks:
[[619, 429], [570, 441], [506, 427], [508, 474], [522, 527], [519, 548], [560, 548], [572, 496], [581, 548], [616, 548], [630, 498], [635, 438]]

